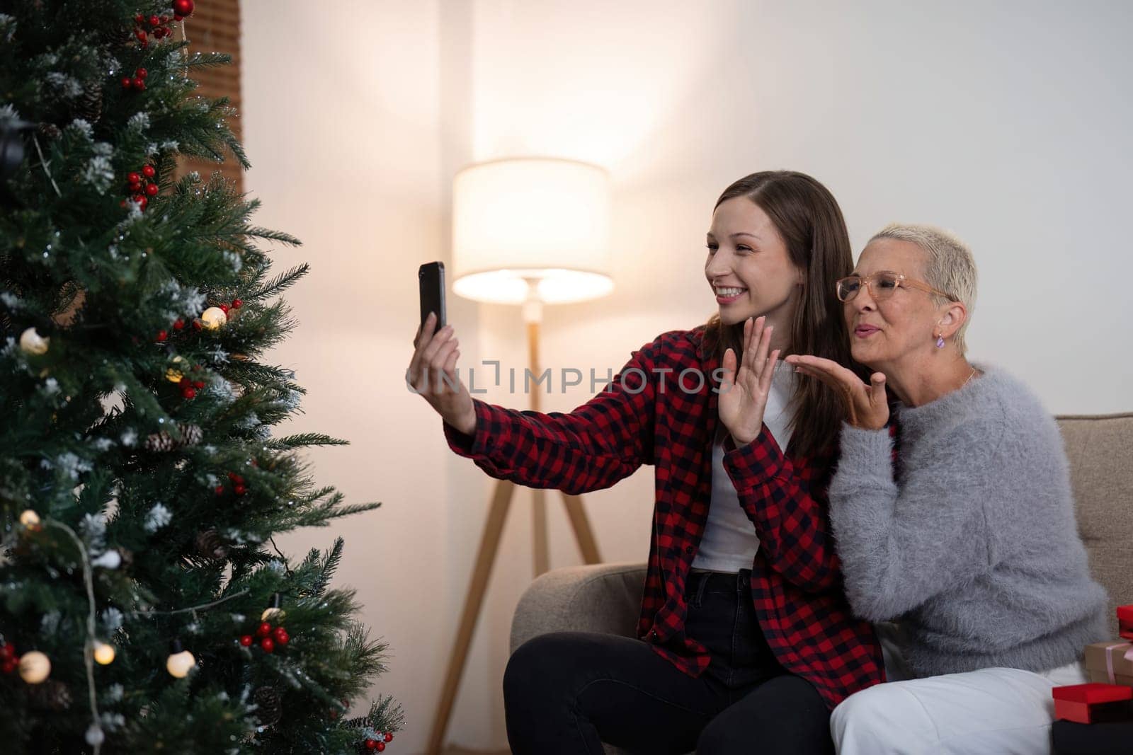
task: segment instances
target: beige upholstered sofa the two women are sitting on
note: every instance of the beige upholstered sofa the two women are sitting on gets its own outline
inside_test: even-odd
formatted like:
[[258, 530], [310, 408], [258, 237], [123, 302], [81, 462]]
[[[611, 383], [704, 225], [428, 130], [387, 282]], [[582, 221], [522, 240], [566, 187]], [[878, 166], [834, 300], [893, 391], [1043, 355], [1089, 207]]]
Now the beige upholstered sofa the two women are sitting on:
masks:
[[[1114, 607], [1133, 603], [1133, 413], [1056, 418], [1071, 466], [1079, 532], [1094, 578]], [[516, 607], [511, 650], [548, 632], [634, 636], [645, 564], [598, 564], [548, 572]], [[620, 753], [607, 746], [610, 754]]]

